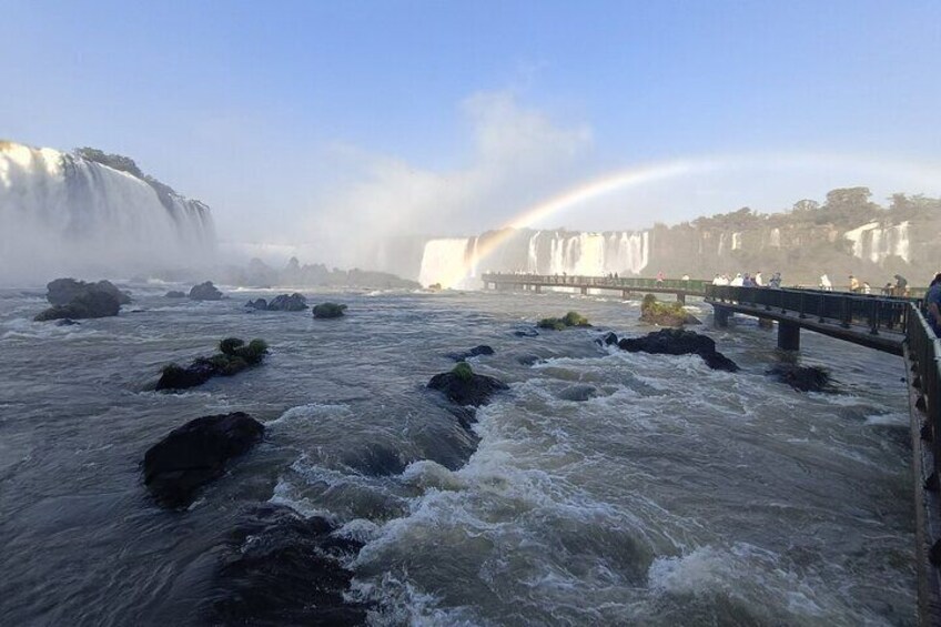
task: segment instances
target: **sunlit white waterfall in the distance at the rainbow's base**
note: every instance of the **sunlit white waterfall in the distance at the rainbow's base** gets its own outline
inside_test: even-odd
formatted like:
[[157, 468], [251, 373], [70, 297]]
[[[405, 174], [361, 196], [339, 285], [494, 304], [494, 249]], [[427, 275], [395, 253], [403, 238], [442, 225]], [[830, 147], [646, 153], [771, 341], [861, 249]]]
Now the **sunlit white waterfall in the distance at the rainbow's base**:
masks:
[[418, 281], [447, 287], [477, 287], [480, 272], [533, 274], [639, 274], [648, 264], [648, 232], [573, 233], [520, 231], [515, 236], [431, 240]]

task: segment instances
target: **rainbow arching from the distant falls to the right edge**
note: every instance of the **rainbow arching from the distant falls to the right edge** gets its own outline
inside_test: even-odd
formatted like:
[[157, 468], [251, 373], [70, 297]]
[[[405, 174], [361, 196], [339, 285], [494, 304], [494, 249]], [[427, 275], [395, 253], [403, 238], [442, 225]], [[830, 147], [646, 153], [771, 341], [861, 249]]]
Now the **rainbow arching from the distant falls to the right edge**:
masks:
[[716, 170], [731, 169], [812, 169], [812, 170], [847, 170], [856, 175], [894, 173], [898, 179], [905, 180], [925, 190], [931, 190], [941, 180], [941, 164], [912, 163], [882, 156], [827, 154], [827, 153], [775, 153], [775, 154], [738, 154], [710, 156], [701, 159], [677, 160], [666, 163], [631, 168], [594, 179], [576, 188], [564, 191], [546, 201], [530, 206], [504, 224], [499, 231], [486, 239], [479, 239], [471, 259], [449, 276], [443, 277], [442, 285], [454, 286], [468, 276], [475, 266], [486, 260], [495, 250], [513, 236], [519, 229], [527, 229], [535, 223], [561, 213], [568, 209], [593, 201], [600, 196], [628, 190], [666, 179], [705, 173]]

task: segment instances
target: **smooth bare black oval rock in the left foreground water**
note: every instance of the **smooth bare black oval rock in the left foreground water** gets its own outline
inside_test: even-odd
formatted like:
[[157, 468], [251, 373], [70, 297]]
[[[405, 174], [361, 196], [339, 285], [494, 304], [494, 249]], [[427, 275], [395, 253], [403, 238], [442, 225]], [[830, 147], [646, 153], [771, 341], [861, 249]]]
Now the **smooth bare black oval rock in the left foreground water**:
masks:
[[144, 455], [144, 485], [158, 503], [183, 507], [222, 476], [229, 459], [262, 441], [264, 425], [243, 412], [203, 416], [173, 429]]

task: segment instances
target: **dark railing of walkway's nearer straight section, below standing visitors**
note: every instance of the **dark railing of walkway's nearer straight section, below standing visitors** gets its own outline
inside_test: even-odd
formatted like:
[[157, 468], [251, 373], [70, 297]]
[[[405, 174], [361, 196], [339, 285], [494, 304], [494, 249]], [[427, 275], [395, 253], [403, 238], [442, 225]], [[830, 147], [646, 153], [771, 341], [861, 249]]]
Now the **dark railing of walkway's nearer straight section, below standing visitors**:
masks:
[[824, 292], [820, 290], [772, 290], [770, 287], [732, 287], [708, 285], [706, 299], [718, 303], [749, 305], [780, 313], [797, 312], [800, 318], [836, 321], [849, 328], [864, 325], [873, 335], [881, 328], [903, 333], [912, 311], [913, 299]]

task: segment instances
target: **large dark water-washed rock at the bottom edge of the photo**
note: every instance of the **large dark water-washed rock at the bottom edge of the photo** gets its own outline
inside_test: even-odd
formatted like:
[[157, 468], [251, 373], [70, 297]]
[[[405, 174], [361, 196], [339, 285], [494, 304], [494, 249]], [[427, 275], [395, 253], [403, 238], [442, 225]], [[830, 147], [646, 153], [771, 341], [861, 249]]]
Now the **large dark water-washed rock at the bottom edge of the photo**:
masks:
[[209, 595], [212, 625], [362, 625], [368, 606], [347, 601], [343, 563], [362, 544], [324, 518], [257, 507], [232, 534]]

